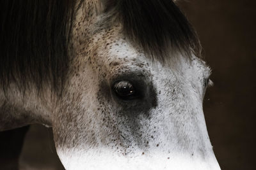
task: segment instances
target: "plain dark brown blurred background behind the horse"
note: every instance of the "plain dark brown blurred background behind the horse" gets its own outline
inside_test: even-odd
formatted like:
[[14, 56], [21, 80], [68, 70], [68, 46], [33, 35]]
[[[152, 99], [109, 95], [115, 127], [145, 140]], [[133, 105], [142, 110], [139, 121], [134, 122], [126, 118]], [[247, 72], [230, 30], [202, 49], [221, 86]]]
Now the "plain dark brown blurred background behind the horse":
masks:
[[[256, 1], [181, 0], [178, 4], [198, 32], [205, 60], [212, 67], [214, 87], [207, 90], [204, 113], [216, 158], [224, 170], [253, 170]], [[2, 132], [0, 138], [15, 142], [15, 135], [20, 131], [28, 131], [19, 160], [20, 169], [63, 169], [51, 129], [31, 125], [29, 130], [24, 127], [12, 134]], [[10, 153], [14, 151], [15, 148], [10, 149]], [[1, 159], [3, 161], [3, 157], [0, 164]]]

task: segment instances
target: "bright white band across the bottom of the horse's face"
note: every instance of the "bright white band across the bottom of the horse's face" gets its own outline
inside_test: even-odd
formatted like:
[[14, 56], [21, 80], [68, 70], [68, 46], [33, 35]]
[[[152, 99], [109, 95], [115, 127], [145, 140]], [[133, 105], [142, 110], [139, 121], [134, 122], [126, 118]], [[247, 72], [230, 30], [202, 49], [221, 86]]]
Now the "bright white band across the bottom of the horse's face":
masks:
[[213, 152], [210, 157], [205, 159], [186, 153], [173, 153], [170, 157], [170, 154], [165, 155], [157, 150], [122, 155], [106, 148], [95, 148], [86, 152], [66, 148], [58, 150], [58, 155], [67, 170], [220, 170]]

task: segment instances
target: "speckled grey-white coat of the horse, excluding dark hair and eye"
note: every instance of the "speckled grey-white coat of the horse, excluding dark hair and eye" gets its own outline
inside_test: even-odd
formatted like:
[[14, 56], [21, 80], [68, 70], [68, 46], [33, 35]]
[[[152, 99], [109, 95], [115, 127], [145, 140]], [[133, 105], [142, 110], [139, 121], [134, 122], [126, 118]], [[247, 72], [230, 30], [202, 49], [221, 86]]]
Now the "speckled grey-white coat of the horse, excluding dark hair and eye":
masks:
[[[52, 127], [66, 169], [220, 169], [202, 110], [209, 67], [172, 45], [164, 61], [150, 55], [106, 3], [78, 6], [62, 96], [11, 83], [0, 91], [0, 128]], [[118, 96], [122, 81], [140, 97]]]

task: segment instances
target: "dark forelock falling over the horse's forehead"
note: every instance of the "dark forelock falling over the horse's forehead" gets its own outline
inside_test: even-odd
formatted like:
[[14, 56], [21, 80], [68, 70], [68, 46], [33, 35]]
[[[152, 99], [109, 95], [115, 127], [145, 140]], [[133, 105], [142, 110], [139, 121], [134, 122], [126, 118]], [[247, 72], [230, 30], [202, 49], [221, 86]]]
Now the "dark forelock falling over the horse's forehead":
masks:
[[172, 0], [102, 0], [105, 11], [115, 15], [127, 38], [154, 60], [164, 63], [170, 52], [200, 57], [200, 41], [186, 17]]

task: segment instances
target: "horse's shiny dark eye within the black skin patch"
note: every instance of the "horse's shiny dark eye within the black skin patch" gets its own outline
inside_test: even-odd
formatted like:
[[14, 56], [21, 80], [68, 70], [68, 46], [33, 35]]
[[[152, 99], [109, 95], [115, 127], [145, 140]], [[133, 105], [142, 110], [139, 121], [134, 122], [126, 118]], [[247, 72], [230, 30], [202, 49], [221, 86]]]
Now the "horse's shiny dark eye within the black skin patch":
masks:
[[134, 85], [130, 81], [122, 80], [113, 85], [117, 97], [123, 100], [132, 100], [138, 97]]

